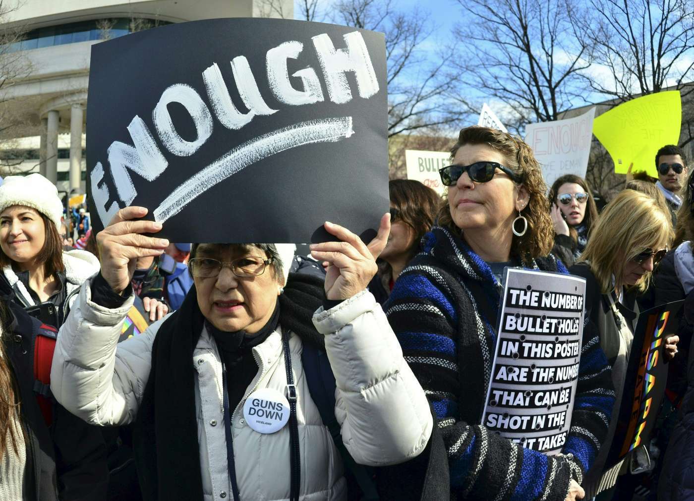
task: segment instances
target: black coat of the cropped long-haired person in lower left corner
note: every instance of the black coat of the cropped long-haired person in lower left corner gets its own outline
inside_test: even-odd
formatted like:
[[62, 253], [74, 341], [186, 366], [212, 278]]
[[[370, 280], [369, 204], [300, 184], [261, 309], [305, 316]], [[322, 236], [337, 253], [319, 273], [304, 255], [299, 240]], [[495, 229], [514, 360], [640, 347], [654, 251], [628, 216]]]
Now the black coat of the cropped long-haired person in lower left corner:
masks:
[[25, 499], [105, 499], [108, 467], [101, 430], [57, 403], [53, 406], [53, 422], [46, 426], [33, 391], [34, 343], [41, 323], [11, 300], [11, 289], [4, 278], [0, 279], [0, 300], [8, 305], [12, 317], [10, 332], [1, 342], [19, 391], [20, 417], [26, 432]]

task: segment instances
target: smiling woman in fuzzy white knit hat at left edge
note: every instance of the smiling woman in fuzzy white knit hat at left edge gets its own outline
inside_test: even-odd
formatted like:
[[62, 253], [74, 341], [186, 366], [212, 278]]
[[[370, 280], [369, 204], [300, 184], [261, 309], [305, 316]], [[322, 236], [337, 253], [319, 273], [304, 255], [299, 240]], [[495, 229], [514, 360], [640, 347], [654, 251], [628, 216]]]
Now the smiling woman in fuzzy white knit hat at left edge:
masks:
[[[0, 186], [2, 273], [15, 301], [56, 328], [65, 321], [83, 282], [99, 271], [99, 260], [92, 253], [63, 250], [61, 219], [58, 189], [44, 176], [5, 178]], [[41, 303], [53, 305], [40, 309]], [[157, 306], [146, 304], [145, 309]]]

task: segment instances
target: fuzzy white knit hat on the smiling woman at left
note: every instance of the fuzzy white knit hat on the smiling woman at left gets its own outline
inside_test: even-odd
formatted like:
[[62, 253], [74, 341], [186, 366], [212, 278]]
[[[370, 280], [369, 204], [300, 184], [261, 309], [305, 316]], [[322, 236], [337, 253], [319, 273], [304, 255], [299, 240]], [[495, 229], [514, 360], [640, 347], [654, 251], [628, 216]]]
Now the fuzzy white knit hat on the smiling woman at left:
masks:
[[58, 188], [41, 174], [8, 176], [0, 186], [0, 212], [12, 205], [26, 205], [41, 212], [60, 229], [62, 202]]

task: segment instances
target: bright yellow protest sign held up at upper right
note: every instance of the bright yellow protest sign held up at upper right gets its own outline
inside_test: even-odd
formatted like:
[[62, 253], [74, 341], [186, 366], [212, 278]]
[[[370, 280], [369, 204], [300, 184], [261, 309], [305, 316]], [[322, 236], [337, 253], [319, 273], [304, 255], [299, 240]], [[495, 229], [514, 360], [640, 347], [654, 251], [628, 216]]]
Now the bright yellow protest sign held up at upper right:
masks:
[[593, 121], [593, 135], [612, 157], [614, 171], [646, 171], [658, 177], [655, 154], [679, 142], [682, 99], [679, 90], [648, 94], [604, 112]]

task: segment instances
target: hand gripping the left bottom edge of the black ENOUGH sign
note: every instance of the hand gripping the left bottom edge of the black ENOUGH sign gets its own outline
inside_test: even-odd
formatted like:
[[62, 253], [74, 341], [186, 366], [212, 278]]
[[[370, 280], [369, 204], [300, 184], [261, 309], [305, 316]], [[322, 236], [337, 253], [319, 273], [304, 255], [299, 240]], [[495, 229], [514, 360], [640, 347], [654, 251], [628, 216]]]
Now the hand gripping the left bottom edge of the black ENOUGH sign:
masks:
[[142, 235], [162, 229], [162, 223], [155, 221], [133, 221], [146, 214], [145, 207], [125, 207], [96, 235], [101, 257], [101, 275], [118, 294], [133, 280], [138, 257], [161, 255], [169, 245], [167, 239]]

